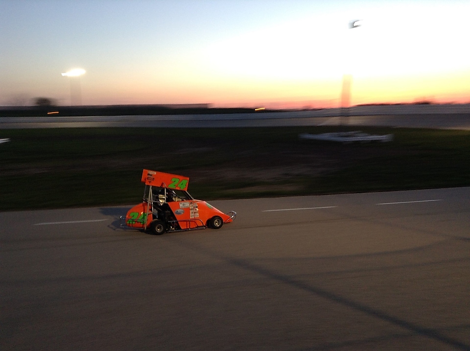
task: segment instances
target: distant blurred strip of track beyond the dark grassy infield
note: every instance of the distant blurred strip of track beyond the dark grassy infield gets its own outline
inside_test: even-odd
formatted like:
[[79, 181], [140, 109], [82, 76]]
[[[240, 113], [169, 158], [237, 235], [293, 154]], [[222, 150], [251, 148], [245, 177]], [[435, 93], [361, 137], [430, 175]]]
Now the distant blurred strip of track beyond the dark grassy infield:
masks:
[[[0, 129], [24, 128], [226, 128], [282, 126], [385, 126], [470, 130], [470, 105], [417, 105], [355, 107], [355, 115], [341, 116], [339, 109], [266, 112], [253, 114], [0, 117]], [[376, 114], [374, 114], [376, 113]], [[336, 115], [335, 115], [336, 114]]]

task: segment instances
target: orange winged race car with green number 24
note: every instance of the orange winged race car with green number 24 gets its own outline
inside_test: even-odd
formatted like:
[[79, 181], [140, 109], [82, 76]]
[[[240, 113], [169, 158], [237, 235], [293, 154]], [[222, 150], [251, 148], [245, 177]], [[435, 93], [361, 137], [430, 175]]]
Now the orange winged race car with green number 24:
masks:
[[128, 227], [160, 235], [219, 229], [235, 219], [235, 211], [224, 213], [206, 201], [192, 198], [186, 191], [188, 177], [144, 169], [141, 181], [145, 183], [142, 203], [130, 209], [125, 217], [120, 217]]

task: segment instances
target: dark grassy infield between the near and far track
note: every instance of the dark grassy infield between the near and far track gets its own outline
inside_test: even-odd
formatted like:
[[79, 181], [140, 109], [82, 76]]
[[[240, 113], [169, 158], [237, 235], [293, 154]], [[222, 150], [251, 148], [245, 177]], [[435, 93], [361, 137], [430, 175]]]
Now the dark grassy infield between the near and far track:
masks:
[[470, 186], [468, 131], [362, 128], [394, 134], [389, 143], [298, 138], [338, 128], [2, 130], [11, 141], [0, 144], [0, 211], [137, 203], [142, 168], [188, 176], [205, 200]]

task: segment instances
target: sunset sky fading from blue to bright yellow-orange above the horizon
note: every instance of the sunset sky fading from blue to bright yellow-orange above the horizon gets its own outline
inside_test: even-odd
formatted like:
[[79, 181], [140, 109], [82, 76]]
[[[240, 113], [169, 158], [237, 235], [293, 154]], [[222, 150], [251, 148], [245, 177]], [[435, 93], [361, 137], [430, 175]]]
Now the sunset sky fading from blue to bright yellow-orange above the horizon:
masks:
[[0, 0], [0, 105], [70, 105], [79, 86], [83, 105], [336, 107], [344, 75], [352, 105], [469, 103], [469, 14], [468, 0]]

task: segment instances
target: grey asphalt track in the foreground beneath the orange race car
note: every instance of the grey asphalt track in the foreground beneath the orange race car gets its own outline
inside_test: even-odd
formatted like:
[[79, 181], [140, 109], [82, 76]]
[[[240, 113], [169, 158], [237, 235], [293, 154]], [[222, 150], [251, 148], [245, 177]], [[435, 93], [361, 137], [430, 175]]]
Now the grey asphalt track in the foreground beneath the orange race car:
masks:
[[0, 350], [470, 350], [470, 187], [0, 212]]

